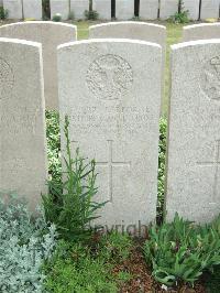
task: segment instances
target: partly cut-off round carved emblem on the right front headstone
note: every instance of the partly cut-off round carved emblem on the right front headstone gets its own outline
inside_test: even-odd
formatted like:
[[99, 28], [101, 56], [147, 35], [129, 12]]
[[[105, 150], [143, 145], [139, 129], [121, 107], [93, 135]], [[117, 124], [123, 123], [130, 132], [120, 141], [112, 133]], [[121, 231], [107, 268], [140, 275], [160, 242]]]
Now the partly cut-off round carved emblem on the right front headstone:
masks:
[[201, 89], [213, 100], [220, 100], [220, 56], [209, 59], [201, 74]]

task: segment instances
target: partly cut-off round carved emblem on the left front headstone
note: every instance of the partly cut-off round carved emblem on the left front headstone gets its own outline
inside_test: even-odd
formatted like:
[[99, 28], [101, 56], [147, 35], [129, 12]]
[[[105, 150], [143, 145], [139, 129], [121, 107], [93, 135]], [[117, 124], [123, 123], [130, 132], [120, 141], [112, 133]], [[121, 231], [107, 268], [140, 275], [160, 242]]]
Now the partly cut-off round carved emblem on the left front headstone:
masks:
[[0, 57], [0, 99], [8, 97], [14, 84], [11, 66]]

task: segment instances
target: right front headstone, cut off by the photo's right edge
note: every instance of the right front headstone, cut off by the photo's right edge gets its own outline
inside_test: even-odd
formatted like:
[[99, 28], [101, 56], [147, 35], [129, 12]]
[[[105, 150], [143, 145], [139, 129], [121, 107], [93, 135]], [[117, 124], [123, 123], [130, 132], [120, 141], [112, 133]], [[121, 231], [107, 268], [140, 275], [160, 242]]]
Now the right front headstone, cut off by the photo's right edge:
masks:
[[167, 219], [208, 223], [220, 208], [220, 41], [172, 47]]

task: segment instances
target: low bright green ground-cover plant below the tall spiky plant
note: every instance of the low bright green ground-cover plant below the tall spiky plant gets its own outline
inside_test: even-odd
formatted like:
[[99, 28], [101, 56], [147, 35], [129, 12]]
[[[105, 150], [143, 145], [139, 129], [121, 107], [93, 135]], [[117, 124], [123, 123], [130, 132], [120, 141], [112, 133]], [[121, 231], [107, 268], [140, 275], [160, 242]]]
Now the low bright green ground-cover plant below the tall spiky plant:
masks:
[[62, 241], [55, 257], [45, 265], [45, 290], [56, 293], [116, 293], [117, 283], [110, 271], [111, 265], [92, 256], [88, 247]]

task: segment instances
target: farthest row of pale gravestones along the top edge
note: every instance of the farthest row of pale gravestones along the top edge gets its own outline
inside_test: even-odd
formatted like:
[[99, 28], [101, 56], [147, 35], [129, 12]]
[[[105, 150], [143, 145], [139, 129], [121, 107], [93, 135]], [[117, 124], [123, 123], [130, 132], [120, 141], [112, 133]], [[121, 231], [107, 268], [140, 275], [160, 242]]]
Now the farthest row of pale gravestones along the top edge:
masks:
[[[42, 19], [42, 0], [0, 0], [0, 4], [9, 11], [10, 19], [33, 18]], [[61, 13], [63, 19], [74, 11], [76, 19], [85, 18], [85, 10], [89, 10], [89, 0], [50, 0], [51, 17]], [[179, 0], [140, 0], [139, 17], [144, 20], [168, 19], [178, 11]], [[185, 10], [189, 18], [198, 20], [219, 18], [220, 0], [184, 0]], [[100, 19], [110, 20], [112, 17], [112, 0], [92, 0], [92, 9]], [[116, 18], [129, 20], [134, 17], [134, 0], [116, 0]]]

